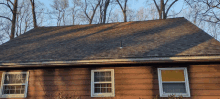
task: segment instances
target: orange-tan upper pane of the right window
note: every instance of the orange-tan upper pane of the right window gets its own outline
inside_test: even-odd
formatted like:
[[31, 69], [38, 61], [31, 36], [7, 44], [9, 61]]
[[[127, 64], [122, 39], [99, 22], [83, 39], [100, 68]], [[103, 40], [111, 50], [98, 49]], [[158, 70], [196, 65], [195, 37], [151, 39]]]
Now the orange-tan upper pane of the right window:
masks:
[[185, 81], [184, 70], [161, 70], [162, 81]]

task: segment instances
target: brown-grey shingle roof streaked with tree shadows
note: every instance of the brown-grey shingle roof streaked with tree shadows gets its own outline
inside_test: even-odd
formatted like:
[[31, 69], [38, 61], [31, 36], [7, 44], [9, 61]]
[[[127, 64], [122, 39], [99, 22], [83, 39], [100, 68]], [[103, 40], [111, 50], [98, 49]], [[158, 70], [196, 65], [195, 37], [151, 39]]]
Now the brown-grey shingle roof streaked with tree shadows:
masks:
[[217, 40], [185, 18], [174, 18], [38, 27], [2, 44], [0, 63], [216, 54]]

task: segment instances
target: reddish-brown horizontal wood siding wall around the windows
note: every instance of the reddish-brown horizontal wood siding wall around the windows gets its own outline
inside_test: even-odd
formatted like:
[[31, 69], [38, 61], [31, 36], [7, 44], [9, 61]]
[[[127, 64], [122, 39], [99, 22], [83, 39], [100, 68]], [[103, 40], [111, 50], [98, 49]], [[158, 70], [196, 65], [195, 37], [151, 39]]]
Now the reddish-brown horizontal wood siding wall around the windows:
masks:
[[[159, 95], [159, 67], [187, 67], [191, 97], [184, 99], [220, 99], [220, 65], [216, 64], [31, 69], [28, 70], [27, 98], [60, 99], [60, 96], [68, 96], [68, 99], [153, 99]], [[114, 69], [115, 97], [91, 98], [92, 69]]]

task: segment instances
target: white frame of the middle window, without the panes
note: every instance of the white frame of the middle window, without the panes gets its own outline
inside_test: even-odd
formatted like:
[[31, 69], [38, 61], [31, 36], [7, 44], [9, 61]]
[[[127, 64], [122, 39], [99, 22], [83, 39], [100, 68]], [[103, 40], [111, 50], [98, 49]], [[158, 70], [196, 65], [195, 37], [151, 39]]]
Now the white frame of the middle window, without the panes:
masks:
[[[98, 83], [111, 83], [112, 84], [112, 92], [111, 93], [94, 93], [94, 72], [101, 72], [101, 71], [111, 71], [111, 82], [98, 82]], [[91, 97], [115, 97], [115, 76], [114, 76], [114, 69], [98, 69], [98, 70], [91, 70]]]

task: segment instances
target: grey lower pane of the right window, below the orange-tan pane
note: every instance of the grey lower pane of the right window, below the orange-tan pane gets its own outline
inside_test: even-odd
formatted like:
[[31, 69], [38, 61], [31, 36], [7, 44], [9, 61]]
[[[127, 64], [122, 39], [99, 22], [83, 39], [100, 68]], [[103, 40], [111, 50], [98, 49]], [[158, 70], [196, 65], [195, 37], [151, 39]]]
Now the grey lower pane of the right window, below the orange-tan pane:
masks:
[[186, 93], [185, 83], [162, 83], [165, 93]]

